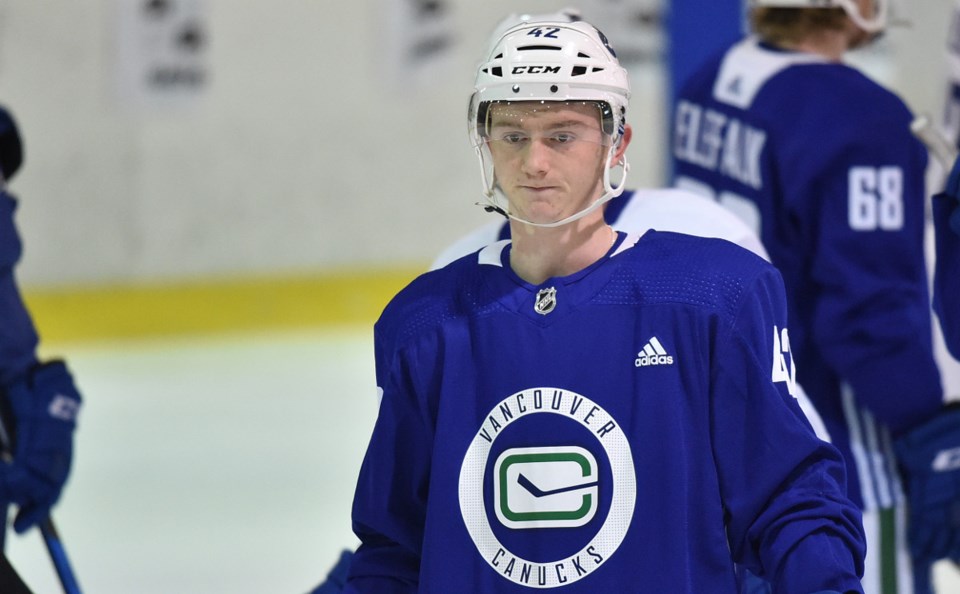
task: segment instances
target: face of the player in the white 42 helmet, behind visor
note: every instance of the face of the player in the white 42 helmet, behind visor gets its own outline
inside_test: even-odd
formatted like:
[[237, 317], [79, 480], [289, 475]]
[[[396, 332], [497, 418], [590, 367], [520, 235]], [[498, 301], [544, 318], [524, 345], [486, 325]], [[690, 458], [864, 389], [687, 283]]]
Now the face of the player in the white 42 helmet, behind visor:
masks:
[[488, 118], [497, 184], [514, 214], [550, 223], [600, 196], [610, 137], [596, 104], [501, 103]]

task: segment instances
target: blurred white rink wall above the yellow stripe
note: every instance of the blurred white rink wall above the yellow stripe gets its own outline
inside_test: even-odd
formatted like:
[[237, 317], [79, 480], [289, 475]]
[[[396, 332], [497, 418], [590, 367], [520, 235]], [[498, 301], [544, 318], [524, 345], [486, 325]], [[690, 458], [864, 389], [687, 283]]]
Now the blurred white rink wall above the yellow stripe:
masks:
[[[485, 35], [571, 4], [455, 0], [454, 67], [397, 93], [378, 59], [391, 0], [207, 0], [210, 85], [164, 111], [115, 93], [123, 1], [0, 0], [0, 103], [27, 150], [12, 184], [25, 284], [426, 263], [490, 216], [473, 206], [464, 121]], [[951, 2], [911, 4], [884, 72], [935, 111]], [[661, 73], [633, 86], [631, 185], [657, 185]]]

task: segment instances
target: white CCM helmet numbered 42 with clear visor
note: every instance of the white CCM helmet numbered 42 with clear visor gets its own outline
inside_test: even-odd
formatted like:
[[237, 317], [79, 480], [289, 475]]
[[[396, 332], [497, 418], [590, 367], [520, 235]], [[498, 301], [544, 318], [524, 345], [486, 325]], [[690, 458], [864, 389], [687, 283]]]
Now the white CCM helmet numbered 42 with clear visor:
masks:
[[[498, 30], [477, 69], [474, 93], [470, 98], [468, 127], [470, 141], [480, 160], [487, 210], [539, 227], [557, 227], [575, 221], [619, 196], [624, 189], [626, 157], [613, 163], [617, 145], [623, 138], [630, 84], [627, 71], [620, 66], [607, 38], [593, 25], [573, 14], [546, 20], [549, 15], [530, 16], [520, 24]], [[522, 17], [521, 17], [522, 18]], [[544, 20], [533, 20], [544, 18]], [[509, 24], [507, 21], [501, 25]], [[604, 142], [607, 146], [603, 175], [603, 194], [586, 209], [552, 223], [532, 223], [509, 213], [498, 196], [493, 159], [487, 146], [487, 117], [495, 102], [539, 101], [545, 108], [558, 102], [589, 102], [598, 107]], [[621, 168], [617, 184], [610, 172]]]

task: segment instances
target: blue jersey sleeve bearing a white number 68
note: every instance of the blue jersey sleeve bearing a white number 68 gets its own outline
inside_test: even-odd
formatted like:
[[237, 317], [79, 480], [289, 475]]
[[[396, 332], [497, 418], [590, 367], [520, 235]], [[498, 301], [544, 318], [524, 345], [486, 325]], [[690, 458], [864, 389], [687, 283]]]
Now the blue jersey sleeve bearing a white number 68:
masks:
[[882, 117], [840, 118], [818, 150], [798, 147], [783, 187], [809, 246], [810, 282], [794, 296], [810, 320], [803, 330], [829, 372], [896, 434], [943, 396], [923, 242], [926, 153], [905, 108], [891, 103], [868, 110]]

